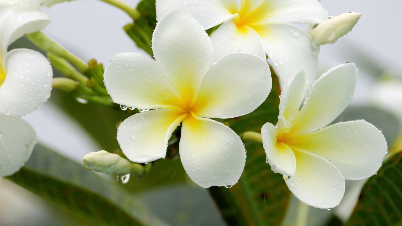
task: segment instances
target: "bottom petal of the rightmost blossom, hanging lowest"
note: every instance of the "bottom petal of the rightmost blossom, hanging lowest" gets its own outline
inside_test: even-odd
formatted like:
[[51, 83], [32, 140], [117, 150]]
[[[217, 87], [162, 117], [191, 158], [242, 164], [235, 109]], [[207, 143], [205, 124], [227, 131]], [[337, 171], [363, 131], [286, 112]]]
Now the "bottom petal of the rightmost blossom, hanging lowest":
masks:
[[296, 172], [285, 180], [289, 190], [315, 208], [334, 208], [345, 193], [345, 179], [328, 160], [316, 154], [295, 151]]

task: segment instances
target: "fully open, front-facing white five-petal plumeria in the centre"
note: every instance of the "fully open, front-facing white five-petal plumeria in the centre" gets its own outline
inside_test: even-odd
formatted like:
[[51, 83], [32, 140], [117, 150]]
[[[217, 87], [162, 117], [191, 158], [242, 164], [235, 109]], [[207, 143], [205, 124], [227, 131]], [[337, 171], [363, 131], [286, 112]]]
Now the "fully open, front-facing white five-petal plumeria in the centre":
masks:
[[232, 53], [213, 63], [213, 46], [195, 18], [172, 11], [152, 37], [156, 62], [138, 53], [120, 53], [105, 70], [115, 103], [138, 109], [117, 130], [133, 162], [165, 158], [168, 140], [180, 125], [180, 159], [201, 187], [237, 183], [246, 160], [239, 136], [209, 118], [232, 118], [254, 111], [267, 98], [272, 79], [265, 60]]

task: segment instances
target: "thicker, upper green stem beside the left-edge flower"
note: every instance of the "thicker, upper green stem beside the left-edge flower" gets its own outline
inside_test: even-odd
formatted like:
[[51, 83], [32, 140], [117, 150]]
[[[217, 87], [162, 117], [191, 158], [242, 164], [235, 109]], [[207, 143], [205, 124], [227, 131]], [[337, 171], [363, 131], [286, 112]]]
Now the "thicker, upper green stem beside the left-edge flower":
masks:
[[27, 37], [41, 49], [49, 53], [52, 53], [60, 58], [64, 58], [68, 62], [74, 64], [74, 66], [76, 66], [78, 70], [80, 70], [81, 72], [84, 72], [88, 69], [88, 65], [83, 60], [81, 60], [76, 55], [64, 49], [64, 47], [62, 47], [59, 43], [49, 38], [41, 31], [28, 34]]

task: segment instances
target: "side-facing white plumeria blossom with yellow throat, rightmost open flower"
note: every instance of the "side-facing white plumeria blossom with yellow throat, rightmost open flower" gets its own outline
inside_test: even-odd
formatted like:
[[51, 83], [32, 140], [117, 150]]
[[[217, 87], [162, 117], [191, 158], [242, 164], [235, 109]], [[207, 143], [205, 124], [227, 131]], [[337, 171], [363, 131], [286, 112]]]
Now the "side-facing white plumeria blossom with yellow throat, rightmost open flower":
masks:
[[302, 71], [284, 88], [276, 127], [266, 123], [261, 129], [263, 144], [272, 169], [284, 176], [300, 201], [333, 208], [345, 193], [345, 179], [365, 179], [378, 171], [387, 143], [364, 120], [326, 126], [353, 97], [355, 64], [342, 64], [323, 74], [305, 100], [306, 81]]

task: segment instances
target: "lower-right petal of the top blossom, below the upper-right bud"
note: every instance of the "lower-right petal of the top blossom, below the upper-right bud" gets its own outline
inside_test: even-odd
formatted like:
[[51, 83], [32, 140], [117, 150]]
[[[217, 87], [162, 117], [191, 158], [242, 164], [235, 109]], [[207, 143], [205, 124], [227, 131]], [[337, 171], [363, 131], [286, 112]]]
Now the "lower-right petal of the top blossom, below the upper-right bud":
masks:
[[[316, 80], [320, 47], [302, 29], [287, 23], [253, 25], [283, 84], [305, 69], [308, 87]], [[310, 89], [309, 89], [310, 90]]]

